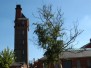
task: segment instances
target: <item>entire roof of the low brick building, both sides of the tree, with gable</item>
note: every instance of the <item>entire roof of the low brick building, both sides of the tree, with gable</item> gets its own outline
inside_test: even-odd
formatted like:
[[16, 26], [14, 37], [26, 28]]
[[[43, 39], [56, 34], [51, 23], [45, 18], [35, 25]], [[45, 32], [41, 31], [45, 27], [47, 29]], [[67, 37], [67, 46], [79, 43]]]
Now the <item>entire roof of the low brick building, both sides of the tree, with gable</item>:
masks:
[[[83, 57], [91, 57], [91, 39], [90, 42], [84, 46], [82, 46], [78, 50], [67, 50], [62, 52], [60, 55], [61, 59], [69, 59], [69, 58], [83, 58]], [[40, 58], [40, 60], [46, 60], [46, 56]]]

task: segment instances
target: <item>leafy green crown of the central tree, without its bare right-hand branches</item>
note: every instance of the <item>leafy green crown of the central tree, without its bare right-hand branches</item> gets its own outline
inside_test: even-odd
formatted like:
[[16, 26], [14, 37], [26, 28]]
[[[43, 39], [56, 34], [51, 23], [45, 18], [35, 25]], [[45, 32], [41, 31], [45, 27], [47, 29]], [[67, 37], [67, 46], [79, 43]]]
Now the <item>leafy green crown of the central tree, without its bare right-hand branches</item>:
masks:
[[[59, 11], [58, 11], [59, 12]], [[43, 6], [39, 9], [39, 16], [42, 23], [36, 23], [35, 34], [38, 36], [38, 43], [45, 50], [44, 55], [48, 61], [57, 60], [59, 54], [63, 51], [63, 32], [62, 32], [62, 15], [54, 15], [51, 6]]]

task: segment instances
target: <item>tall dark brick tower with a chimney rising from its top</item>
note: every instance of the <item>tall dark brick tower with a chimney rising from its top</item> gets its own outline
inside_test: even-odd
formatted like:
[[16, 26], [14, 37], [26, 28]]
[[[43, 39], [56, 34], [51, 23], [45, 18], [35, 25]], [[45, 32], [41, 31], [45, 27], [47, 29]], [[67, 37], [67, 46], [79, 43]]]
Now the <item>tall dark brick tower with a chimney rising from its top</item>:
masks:
[[15, 41], [14, 41], [14, 52], [16, 56], [16, 62], [24, 62], [28, 65], [28, 30], [29, 20], [21, 12], [22, 8], [20, 5], [16, 5], [15, 15]]

